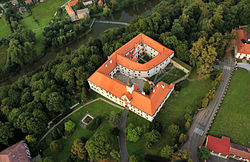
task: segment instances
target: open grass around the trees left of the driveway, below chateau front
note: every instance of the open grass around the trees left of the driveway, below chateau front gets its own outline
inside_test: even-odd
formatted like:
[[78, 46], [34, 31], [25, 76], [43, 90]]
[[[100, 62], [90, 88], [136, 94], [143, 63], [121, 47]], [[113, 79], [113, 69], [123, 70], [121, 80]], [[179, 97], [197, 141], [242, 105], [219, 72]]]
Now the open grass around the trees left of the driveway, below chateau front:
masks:
[[[104, 117], [104, 116], [107, 116], [111, 111], [121, 112], [122, 110], [115, 108], [112, 105], [107, 104], [103, 101], [97, 101], [82, 108], [81, 110], [74, 113], [68, 118], [72, 120], [73, 122], [75, 122], [77, 127], [73, 135], [70, 136], [68, 139], [60, 139], [60, 142], [62, 142], [64, 146], [63, 151], [60, 153], [54, 154], [50, 151], [48, 147], [48, 149], [44, 151], [45, 156], [51, 156], [54, 158], [55, 161], [58, 161], [58, 162], [67, 161], [67, 158], [70, 156], [70, 150], [71, 150], [73, 141], [79, 137], [85, 137], [86, 139], [89, 139], [95, 133], [95, 131], [83, 129], [79, 124], [81, 119], [86, 115], [87, 111], [93, 117], [96, 117], [98, 115], [101, 115]], [[103, 123], [100, 125], [97, 131], [104, 131], [104, 132], [107, 132], [105, 134], [109, 134], [109, 131], [111, 129], [112, 127], [110, 126], [109, 122], [104, 119]], [[46, 140], [47, 145], [49, 146], [50, 142], [52, 141], [51, 134], [49, 134], [45, 140]], [[110, 136], [110, 140], [113, 143], [113, 147], [116, 148], [116, 150], [119, 150], [118, 139], [116, 137]]]

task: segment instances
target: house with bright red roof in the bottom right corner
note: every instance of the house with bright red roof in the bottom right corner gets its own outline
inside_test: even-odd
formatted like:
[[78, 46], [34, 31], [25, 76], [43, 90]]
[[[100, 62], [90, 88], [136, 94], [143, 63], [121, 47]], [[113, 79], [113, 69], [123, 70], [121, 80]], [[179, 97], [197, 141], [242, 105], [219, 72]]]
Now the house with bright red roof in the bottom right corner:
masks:
[[217, 138], [208, 136], [206, 148], [211, 150], [211, 155], [224, 159], [230, 157], [240, 161], [250, 161], [250, 148], [230, 143], [229, 137], [222, 136], [222, 138]]

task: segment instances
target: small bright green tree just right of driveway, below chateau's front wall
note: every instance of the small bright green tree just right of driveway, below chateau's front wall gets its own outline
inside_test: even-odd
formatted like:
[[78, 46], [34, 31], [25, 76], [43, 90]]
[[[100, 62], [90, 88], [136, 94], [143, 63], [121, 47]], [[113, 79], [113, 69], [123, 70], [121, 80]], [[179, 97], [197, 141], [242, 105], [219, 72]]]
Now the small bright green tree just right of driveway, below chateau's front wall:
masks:
[[126, 138], [128, 141], [131, 142], [136, 142], [140, 139], [140, 136], [142, 134], [142, 128], [141, 127], [136, 127], [134, 128], [133, 124], [129, 124], [128, 127], [126, 128]]

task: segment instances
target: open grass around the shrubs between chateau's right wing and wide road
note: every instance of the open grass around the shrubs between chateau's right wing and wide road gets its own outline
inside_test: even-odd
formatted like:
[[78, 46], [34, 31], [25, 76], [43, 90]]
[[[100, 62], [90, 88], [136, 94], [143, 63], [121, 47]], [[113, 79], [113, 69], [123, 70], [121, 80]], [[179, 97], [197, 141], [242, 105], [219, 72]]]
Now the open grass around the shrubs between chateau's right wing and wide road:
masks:
[[[160, 121], [163, 125], [163, 132], [160, 142], [157, 145], [153, 146], [150, 150], [145, 149], [144, 147], [144, 137], [142, 137], [137, 143], [127, 142], [129, 154], [135, 154], [141, 160], [147, 153], [159, 155], [160, 150], [166, 144], [170, 144], [170, 136], [167, 131], [168, 126], [176, 120], [184, 120], [185, 108], [187, 106], [191, 106], [194, 109], [197, 109], [197, 104], [199, 103], [200, 98], [204, 97], [212, 87], [211, 83], [212, 81], [210, 79], [205, 81], [192, 81], [189, 82], [186, 87], [182, 88], [178, 94], [172, 94], [171, 97], [166, 101], [164, 107], [160, 110], [160, 112], [154, 119]], [[129, 123], [134, 123], [135, 125], [139, 125], [141, 127], [148, 126], [149, 122], [135, 114], [131, 115], [131, 113], [128, 116], [127, 125]]]

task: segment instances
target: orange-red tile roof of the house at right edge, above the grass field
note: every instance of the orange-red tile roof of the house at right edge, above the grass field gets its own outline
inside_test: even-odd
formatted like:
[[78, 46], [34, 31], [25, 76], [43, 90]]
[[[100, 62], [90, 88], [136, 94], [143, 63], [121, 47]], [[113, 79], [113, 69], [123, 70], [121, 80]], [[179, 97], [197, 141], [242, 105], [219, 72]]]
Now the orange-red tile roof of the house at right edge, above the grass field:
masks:
[[238, 39], [237, 39], [237, 52], [250, 54], [250, 44], [244, 44], [241, 40], [244, 39], [247, 41], [247, 32], [245, 30], [236, 30]]

